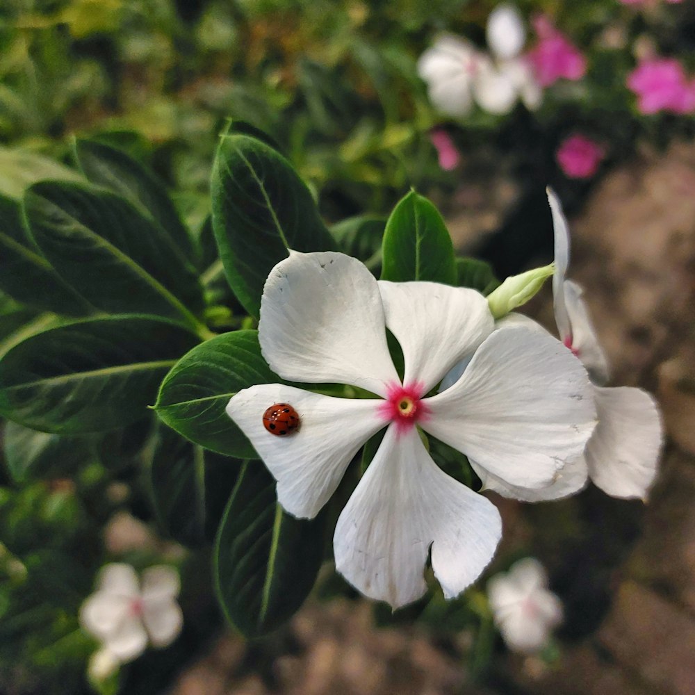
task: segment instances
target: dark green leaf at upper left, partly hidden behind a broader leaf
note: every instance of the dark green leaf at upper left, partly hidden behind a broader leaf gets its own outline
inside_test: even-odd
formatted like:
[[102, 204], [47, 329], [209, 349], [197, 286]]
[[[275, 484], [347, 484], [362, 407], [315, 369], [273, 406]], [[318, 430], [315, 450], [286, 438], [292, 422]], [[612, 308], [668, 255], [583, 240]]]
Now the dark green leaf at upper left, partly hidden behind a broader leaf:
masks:
[[124, 197], [157, 222], [187, 259], [193, 243], [163, 183], [120, 149], [96, 140], [76, 140], [75, 158], [85, 177]]

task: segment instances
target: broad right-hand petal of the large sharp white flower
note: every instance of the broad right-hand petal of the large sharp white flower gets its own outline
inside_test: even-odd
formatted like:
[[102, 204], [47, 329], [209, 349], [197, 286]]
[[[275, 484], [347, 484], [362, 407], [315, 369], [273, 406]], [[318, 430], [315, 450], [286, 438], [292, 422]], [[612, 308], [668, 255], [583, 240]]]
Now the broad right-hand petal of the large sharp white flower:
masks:
[[580, 362], [555, 338], [521, 327], [493, 332], [461, 379], [425, 403], [423, 430], [521, 487], [553, 482], [596, 425]]

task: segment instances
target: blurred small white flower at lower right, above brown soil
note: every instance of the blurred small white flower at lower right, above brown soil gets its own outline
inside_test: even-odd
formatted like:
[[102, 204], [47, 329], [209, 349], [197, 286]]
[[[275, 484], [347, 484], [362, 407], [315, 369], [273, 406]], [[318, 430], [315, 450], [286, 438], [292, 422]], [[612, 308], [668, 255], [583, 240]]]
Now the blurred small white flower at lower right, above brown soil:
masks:
[[487, 583], [495, 624], [510, 649], [539, 651], [562, 622], [562, 603], [547, 587], [546, 571], [532, 557], [515, 562], [508, 573], [496, 574]]

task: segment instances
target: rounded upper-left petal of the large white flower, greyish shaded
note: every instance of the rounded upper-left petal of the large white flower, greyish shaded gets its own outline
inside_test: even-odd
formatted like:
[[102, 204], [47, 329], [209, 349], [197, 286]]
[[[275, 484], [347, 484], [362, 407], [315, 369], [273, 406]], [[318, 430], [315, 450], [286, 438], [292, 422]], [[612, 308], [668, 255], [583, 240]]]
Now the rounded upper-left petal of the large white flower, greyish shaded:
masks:
[[292, 251], [270, 271], [259, 341], [283, 379], [352, 384], [382, 396], [398, 382], [377, 281], [345, 254]]

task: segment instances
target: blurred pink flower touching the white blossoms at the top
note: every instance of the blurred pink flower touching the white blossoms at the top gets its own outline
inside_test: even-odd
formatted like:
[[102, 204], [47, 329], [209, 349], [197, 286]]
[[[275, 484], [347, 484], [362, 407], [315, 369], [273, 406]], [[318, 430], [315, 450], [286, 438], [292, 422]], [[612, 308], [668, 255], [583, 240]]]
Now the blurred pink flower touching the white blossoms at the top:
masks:
[[579, 80], [587, 72], [587, 60], [566, 36], [557, 31], [546, 15], [533, 21], [538, 35], [537, 44], [529, 51], [528, 59], [541, 87], [559, 79]]

